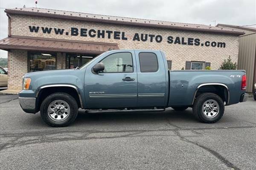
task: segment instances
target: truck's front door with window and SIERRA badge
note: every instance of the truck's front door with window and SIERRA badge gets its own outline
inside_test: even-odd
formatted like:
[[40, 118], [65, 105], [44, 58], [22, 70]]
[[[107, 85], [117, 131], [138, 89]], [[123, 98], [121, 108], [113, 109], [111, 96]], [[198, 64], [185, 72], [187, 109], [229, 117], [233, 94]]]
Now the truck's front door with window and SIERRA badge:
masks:
[[[111, 53], [111, 52], [110, 52]], [[99, 62], [104, 71], [85, 73], [84, 89], [88, 108], [126, 108], [137, 106], [137, 69], [134, 51], [114, 52]]]

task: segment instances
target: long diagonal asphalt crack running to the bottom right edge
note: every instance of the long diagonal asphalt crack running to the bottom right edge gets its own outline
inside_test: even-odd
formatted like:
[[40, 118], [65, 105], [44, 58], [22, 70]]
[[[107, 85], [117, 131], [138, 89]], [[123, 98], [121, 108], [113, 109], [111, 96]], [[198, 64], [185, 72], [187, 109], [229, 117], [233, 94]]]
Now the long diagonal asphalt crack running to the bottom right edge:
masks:
[[216, 158], [218, 158], [220, 161], [222, 161], [227, 167], [232, 168], [233, 170], [240, 170], [239, 167], [236, 167], [234, 164], [232, 164], [230, 161], [228, 161], [227, 159], [225, 159], [223, 156], [221, 156], [221, 154], [219, 154], [218, 152], [209, 149], [208, 147], [205, 147], [197, 142], [193, 142], [189, 139], [186, 139], [184, 136], [180, 135], [180, 132], [178, 130], [174, 130], [175, 134], [180, 138], [180, 140], [190, 143], [190, 144], [194, 144], [198, 147], [201, 147], [202, 149], [208, 151], [209, 153], [211, 153], [213, 156], [215, 156]]

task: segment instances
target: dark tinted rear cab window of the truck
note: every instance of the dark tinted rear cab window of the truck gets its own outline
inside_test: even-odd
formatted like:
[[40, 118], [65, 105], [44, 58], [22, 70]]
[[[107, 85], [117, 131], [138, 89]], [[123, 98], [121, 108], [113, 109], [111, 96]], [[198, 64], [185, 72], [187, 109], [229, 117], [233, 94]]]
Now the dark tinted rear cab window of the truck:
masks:
[[158, 61], [157, 55], [152, 52], [141, 52], [139, 53], [140, 59], [140, 72], [157, 72]]

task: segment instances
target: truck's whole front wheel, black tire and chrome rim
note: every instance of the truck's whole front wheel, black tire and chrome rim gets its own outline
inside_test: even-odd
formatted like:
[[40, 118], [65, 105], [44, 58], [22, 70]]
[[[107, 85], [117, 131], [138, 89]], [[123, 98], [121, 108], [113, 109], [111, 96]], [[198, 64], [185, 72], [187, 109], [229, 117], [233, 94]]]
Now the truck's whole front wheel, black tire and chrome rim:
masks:
[[78, 114], [76, 99], [66, 93], [54, 93], [47, 96], [41, 104], [41, 117], [52, 127], [70, 125]]

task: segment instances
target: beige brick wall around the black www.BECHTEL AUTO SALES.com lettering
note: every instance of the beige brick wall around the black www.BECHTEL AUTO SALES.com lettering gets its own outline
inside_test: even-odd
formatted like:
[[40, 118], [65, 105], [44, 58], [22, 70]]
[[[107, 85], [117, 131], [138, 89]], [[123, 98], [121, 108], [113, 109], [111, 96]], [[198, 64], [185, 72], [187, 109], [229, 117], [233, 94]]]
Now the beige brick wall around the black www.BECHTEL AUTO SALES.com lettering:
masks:
[[[59, 39], [68, 39], [68, 40], [84, 40], [84, 41], [96, 41], [96, 42], [113, 42], [118, 43], [120, 49], [154, 49], [162, 50], [166, 54], [166, 58], [172, 60], [172, 70], [180, 70], [185, 68], [186, 61], [203, 61], [211, 62], [212, 69], [218, 69], [224, 59], [227, 59], [229, 56], [233, 61], [238, 60], [238, 49], [239, 49], [239, 37], [233, 35], [224, 35], [224, 34], [209, 34], [203, 32], [190, 32], [190, 31], [175, 31], [167, 29], [156, 29], [156, 28], [142, 28], [142, 27], [133, 27], [133, 26], [117, 26], [110, 24], [100, 24], [100, 23], [88, 23], [81, 21], [72, 21], [72, 20], [58, 20], [58, 19], [49, 19], [41, 17], [32, 17], [32, 16], [19, 16], [12, 15], [11, 20], [11, 34], [19, 36], [33, 36], [33, 37], [48, 37], [48, 38], [59, 38]], [[40, 28], [38, 33], [31, 33], [29, 31], [29, 26], [39, 26], [39, 27], [51, 27], [51, 34], [44, 34]], [[92, 38], [87, 35], [87, 37], [81, 36], [71, 36], [70, 31], [71, 27], [75, 28], [87, 28], [95, 30], [110, 30], [110, 31], [120, 31], [125, 32], [125, 37], [128, 40], [115, 40], [113, 39], [113, 34], [111, 39], [108, 39], [107, 34], [105, 38], [98, 38], [97, 36]], [[62, 28], [65, 32], [69, 32], [69, 35], [56, 35], [53, 28]], [[139, 34], [154, 34], [161, 35], [163, 41], [150, 42], [150, 41], [133, 41], [135, 33]], [[87, 32], [88, 34], [88, 32]], [[187, 38], [199, 38], [200, 42], [205, 41], [215, 41], [215, 42], [225, 42], [226, 48], [217, 48], [217, 47], [206, 47], [206, 46], [196, 46], [196, 45], [179, 45], [179, 44], [169, 44], [167, 43], [167, 37], [185, 37]], [[10, 52], [12, 55], [12, 52]], [[25, 55], [26, 56], [26, 55]], [[65, 54], [64, 54], [65, 56]], [[13, 57], [12, 57], [13, 58]], [[27, 57], [24, 57], [26, 60]], [[61, 60], [63, 59], [63, 60]], [[61, 60], [61, 61], [60, 61]], [[57, 54], [57, 68], [65, 68], [65, 57], [61, 57], [61, 53]], [[12, 65], [12, 62], [9, 63]], [[21, 67], [21, 66], [19, 66]], [[24, 66], [22, 66], [24, 67]], [[20, 73], [17, 73], [20, 75]]]

